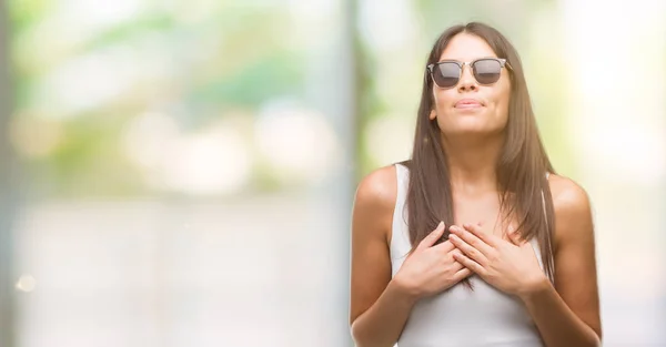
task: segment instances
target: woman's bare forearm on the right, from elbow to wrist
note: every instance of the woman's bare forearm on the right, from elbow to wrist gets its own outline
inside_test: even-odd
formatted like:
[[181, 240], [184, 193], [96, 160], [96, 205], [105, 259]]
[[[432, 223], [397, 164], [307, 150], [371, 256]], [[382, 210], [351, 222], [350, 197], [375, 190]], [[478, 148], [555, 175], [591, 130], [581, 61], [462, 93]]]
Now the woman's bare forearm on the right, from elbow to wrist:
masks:
[[601, 346], [597, 333], [572, 312], [547, 279], [519, 297], [547, 347]]

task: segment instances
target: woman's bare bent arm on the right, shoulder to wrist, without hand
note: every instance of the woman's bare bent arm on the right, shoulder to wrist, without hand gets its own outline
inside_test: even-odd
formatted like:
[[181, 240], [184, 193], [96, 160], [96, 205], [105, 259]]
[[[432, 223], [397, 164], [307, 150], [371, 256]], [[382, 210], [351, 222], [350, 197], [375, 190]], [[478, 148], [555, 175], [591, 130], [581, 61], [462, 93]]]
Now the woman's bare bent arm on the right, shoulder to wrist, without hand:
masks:
[[601, 346], [594, 226], [585, 191], [553, 175], [555, 287], [547, 279], [519, 295], [548, 347]]

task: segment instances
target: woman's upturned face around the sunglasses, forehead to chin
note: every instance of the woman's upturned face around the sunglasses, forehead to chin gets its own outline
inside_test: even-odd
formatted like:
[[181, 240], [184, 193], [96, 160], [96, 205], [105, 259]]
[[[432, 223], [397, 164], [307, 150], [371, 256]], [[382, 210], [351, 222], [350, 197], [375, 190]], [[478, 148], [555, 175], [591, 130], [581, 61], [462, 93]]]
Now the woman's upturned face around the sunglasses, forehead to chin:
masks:
[[[497, 55], [483, 39], [463, 32], [448, 42], [440, 61], [471, 62], [480, 58]], [[458, 83], [452, 88], [442, 89], [433, 83], [435, 109], [430, 119], [436, 119], [444, 135], [501, 133], [508, 119], [511, 96], [506, 70], [502, 68], [500, 80], [488, 85], [475, 80], [470, 65], [463, 67]]]

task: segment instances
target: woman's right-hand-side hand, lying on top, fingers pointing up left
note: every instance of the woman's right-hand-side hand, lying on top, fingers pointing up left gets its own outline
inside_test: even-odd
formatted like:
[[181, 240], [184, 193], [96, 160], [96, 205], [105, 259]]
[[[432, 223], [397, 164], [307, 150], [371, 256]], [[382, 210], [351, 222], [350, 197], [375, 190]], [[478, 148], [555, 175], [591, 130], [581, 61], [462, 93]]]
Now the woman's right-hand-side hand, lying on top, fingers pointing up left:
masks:
[[454, 258], [495, 288], [523, 296], [548, 283], [528, 242], [516, 245], [484, 233], [478, 225], [453, 225], [450, 229], [448, 239], [463, 253], [454, 254]]

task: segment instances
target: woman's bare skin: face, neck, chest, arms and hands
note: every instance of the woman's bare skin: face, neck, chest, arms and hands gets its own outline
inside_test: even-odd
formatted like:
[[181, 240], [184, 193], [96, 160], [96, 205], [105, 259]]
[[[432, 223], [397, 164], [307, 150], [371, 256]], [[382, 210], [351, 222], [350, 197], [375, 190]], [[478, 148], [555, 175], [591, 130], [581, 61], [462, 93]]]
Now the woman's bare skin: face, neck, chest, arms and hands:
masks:
[[[441, 60], [496, 57], [482, 39], [453, 38]], [[494, 172], [508, 116], [511, 81], [480, 85], [465, 67], [452, 89], [433, 88], [430, 119], [442, 129], [453, 188], [453, 237], [432, 246], [443, 225], [426, 237], [391, 278], [390, 239], [396, 201], [394, 166], [379, 169], [359, 184], [352, 216], [350, 324], [359, 347], [393, 346], [414, 304], [474, 273], [517, 296], [532, 315], [546, 346], [598, 346], [601, 319], [594, 226], [586, 192], [572, 180], [551, 175], [555, 207], [555, 285], [538, 266], [528, 244], [497, 225]], [[478, 108], [456, 108], [475, 99]], [[508, 226], [511, 227], [511, 226]]]

